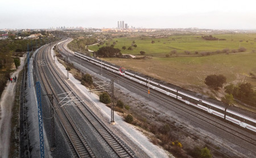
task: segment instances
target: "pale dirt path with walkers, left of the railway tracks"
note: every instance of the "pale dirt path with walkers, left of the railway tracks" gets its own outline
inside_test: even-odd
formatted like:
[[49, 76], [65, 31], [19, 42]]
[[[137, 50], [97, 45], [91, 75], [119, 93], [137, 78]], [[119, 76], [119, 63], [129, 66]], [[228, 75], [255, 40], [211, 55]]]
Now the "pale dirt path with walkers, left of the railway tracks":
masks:
[[[11, 77], [19, 77], [18, 74], [20, 70], [23, 69], [24, 59], [26, 55], [20, 58], [20, 66], [18, 69], [10, 74]], [[10, 134], [11, 134], [11, 117], [13, 103], [14, 103], [14, 95], [15, 95], [15, 86], [16, 82], [7, 82], [7, 86], [2, 93], [1, 96], [1, 119], [0, 119], [0, 157], [8, 157], [9, 156], [9, 148], [10, 148]]]

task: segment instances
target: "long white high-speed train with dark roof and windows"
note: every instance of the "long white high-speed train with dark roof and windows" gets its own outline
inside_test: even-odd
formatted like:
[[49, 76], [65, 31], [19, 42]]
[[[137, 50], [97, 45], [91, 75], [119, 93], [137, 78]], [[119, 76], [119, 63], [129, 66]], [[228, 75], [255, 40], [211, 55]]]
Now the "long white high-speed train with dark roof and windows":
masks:
[[104, 69], [120, 74], [121, 76], [129, 78], [130, 80], [138, 82], [139, 84], [149, 86], [151, 89], [157, 90], [158, 92], [176, 98], [182, 102], [187, 103], [188, 105], [192, 105], [201, 110], [207, 111], [210, 114], [216, 115], [217, 117], [221, 117], [230, 122], [238, 124], [241, 127], [256, 132], [256, 119], [247, 117], [245, 114], [237, 113], [236, 110], [232, 110], [232, 107], [226, 107], [220, 101], [215, 101], [214, 103], [210, 102], [208, 101], [208, 99], [197, 97], [196, 95], [188, 93], [188, 91], [186, 90], [181, 90], [181, 88], [180, 90], [177, 90], [176, 88], [171, 88], [170, 86], [159, 84], [156, 81], [150, 81], [149, 78], [139, 76], [136, 73], [126, 71], [119, 66], [115, 66], [105, 61], [98, 60], [94, 57], [82, 55], [81, 53], [77, 52], [75, 52], [75, 56], [79, 57], [80, 59], [86, 60], [92, 64], [102, 66], [102, 68]]

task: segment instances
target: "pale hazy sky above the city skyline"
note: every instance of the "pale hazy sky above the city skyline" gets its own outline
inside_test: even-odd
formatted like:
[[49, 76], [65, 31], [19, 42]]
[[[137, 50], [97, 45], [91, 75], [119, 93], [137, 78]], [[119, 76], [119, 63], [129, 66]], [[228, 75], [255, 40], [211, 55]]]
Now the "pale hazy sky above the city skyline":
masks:
[[1, 0], [0, 28], [256, 29], [255, 0]]

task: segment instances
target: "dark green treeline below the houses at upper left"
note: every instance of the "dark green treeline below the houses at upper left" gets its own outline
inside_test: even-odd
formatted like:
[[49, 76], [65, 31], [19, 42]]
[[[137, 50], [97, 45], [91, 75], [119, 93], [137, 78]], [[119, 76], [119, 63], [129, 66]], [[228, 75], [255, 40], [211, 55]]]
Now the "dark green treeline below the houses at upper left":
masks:
[[13, 39], [13, 40], [0, 40], [0, 53], [7, 52], [26, 52], [27, 45], [29, 51], [39, 48], [40, 46], [58, 40], [57, 38], [43, 38], [43, 39]]

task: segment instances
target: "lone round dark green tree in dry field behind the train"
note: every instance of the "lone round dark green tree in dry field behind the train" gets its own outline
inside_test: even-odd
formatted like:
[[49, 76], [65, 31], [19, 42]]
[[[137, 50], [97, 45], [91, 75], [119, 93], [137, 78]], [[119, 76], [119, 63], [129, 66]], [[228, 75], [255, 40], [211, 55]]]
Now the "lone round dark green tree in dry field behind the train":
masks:
[[226, 77], [222, 74], [219, 74], [218, 76], [216, 74], [209, 75], [205, 78], [205, 84], [208, 85], [211, 88], [214, 88], [215, 90], [218, 90], [218, 88], [222, 88], [222, 85], [225, 84]]

